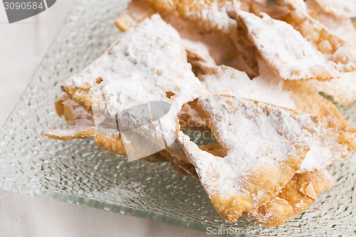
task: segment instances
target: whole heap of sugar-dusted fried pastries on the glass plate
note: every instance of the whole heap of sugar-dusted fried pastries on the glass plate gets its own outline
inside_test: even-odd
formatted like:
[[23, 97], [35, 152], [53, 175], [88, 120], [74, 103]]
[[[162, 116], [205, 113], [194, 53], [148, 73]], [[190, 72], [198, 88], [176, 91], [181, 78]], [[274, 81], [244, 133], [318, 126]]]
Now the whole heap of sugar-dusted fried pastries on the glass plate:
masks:
[[[356, 4], [323, 0], [132, 0], [117, 42], [62, 85], [67, 129], [44, 135], [93, 137], [125, 156], [140, 147], [95, 121], [134, 124], [163, 146], [142, 159], [199, 179], [224, 219], [281, 225], [333, 186], [326, 168], [356, 149], [334, 103], [356, 100], [351, 16]], [[122, 112], [150, 101], [169, 104], [158, 123]], [[192, 127], [216, 143], [194, 143], [182, 132]]]

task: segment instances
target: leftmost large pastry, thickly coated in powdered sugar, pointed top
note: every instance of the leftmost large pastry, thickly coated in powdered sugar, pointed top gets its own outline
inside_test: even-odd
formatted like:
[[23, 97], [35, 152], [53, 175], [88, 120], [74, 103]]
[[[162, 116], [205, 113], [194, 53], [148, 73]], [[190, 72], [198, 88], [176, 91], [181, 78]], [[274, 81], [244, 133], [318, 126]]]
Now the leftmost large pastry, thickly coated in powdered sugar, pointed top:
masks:
[[[145, 142], [157, 145], [155, 151], [167, 148], [178, 156], [182, 152], [174, 142], [177, 113], [184, 103], [206, 91], [187, 63], [177, 31], [158, 15], [123, 33], [103, 56], [67, 80], [62, 89], [94, 116], [119, 120], [121, 127], [133, 127]], [[143, 118], [140, 107], [137, 114], [125, 112], [151, 101], [166, 102], [170, 109], [159, 120], [153, 120], [155, 115]], [[124, 144], [130, 142], [122, 140]], [[140, 149], [133, 147], [131, 152], [135, 150]]]

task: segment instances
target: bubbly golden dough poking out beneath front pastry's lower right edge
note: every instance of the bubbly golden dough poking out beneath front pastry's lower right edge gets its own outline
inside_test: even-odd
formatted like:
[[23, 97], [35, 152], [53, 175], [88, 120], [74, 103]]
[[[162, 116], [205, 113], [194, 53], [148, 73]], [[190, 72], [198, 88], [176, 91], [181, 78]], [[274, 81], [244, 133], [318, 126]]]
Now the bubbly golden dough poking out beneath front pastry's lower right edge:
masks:
[[308, 209], [317, 199], [317, 194], [332, 186], [333, 178], [326, 169], [295, 174], [276, 198], [244, 215], [265, 226], [280, 226], [290, 216]]

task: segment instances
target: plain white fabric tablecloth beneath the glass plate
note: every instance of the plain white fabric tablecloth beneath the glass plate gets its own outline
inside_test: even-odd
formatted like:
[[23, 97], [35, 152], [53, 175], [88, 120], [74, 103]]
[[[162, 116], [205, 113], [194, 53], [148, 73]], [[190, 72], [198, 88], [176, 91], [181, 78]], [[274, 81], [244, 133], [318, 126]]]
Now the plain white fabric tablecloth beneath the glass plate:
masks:
[[[9, 24], [0, 4], [0, 125], [41, 62], [73, 0]], [[164, 223], [0, 189], [0, 236], [207, 236]]]

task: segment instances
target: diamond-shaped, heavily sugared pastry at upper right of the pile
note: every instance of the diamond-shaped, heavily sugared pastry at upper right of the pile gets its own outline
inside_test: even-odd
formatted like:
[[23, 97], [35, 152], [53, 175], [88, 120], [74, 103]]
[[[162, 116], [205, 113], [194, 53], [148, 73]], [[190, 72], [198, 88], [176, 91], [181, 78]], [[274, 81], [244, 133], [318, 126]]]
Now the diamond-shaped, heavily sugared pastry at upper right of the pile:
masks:
[[341, 62], [330, 58], [330, 52], [318, 50], [284, 21], [271, 19], [267, 14], [258, 17], [246, 11], [238, 11], [237, 16], [258, 52], [285, 80], [330, 80], [340, 77], [343, 63], [350, 65], [350, 70], [354, 67], [351, 59]]

